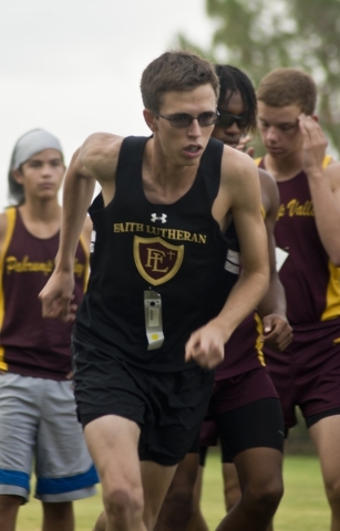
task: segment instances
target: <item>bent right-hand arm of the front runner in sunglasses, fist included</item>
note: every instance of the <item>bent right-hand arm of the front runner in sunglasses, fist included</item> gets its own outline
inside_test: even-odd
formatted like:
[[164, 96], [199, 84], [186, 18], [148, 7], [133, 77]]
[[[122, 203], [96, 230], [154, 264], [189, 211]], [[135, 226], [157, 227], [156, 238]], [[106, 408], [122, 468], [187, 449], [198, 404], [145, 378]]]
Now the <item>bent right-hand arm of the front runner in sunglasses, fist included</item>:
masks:
[[[213, 368], [223, 361], [225, 343], [241, 321], [254, 311], [268, 288], [268, 246], [260, 211], [258, 173], [247, 155], [238, 154], [236, 158], [233, 177], [226, 179], [226, 185], [240, 244], [243, 274], [220, 313], [194, 332], [186, 344], [186, 361], [193, 358], [205, 368]], [[228, 166], [226, 162], [225, 164]], [[230, 170], [225, 171], [229, 174]]]

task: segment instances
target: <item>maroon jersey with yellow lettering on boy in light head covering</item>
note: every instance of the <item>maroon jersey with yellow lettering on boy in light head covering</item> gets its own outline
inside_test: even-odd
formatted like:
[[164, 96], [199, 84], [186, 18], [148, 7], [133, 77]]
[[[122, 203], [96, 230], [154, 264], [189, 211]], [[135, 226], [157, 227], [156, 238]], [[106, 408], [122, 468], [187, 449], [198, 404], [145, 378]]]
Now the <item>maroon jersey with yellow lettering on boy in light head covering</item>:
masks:
[[[72, 323], [42, 319], [38, 294], [49, 280], [59, 232], [40, 239], [24, 227], [19, 209], [7, 211], [8, 231], [0, 256], [0, 369], [23, 376], [64, 379], [71, 371]], [[85, 247], [74, 261], [74, 302], [80, 303], [89, 272]]]

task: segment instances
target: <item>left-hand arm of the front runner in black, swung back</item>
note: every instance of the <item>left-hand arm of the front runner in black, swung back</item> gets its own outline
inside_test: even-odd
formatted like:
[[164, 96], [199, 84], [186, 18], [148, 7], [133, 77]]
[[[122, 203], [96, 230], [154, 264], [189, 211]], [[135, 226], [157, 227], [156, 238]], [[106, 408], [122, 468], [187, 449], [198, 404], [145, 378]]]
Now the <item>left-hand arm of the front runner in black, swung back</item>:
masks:
[[95, 183], [105, 190], [106, 198], [114, 194], [115, 165], [120, 137], [95, 134], [75, 152], [68, 168], [64, 190], [62, 225], [55, 269], [40, 293], [42, 313], [47, 317], [74, 320], [73, 262], [80, 235], [93, 196]]

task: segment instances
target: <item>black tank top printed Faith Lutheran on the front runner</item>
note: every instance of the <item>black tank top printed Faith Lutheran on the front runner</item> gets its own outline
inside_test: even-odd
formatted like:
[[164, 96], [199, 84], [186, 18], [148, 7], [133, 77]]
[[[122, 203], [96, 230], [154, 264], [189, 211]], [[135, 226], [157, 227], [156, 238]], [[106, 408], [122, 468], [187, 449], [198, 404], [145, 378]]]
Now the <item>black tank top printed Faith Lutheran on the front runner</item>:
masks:
[[[124, 139], [113, 200], [100, 194], [90, 215], [96, 239], [87, 292], [79, 309], [78, 340], [153, 371], [179, 371], [192, 332], [216, 316], [237, 280], [225, 269], [236, 246], [213, 218], [223, 144], [210, 139], [192, 188], [172, 205], [150, 202], [143, 190], [146, 137]], [[228, 232], [229, 235], [229, 232]], [[148, 351], [144, 291], [162, 296], [164, 343]]]

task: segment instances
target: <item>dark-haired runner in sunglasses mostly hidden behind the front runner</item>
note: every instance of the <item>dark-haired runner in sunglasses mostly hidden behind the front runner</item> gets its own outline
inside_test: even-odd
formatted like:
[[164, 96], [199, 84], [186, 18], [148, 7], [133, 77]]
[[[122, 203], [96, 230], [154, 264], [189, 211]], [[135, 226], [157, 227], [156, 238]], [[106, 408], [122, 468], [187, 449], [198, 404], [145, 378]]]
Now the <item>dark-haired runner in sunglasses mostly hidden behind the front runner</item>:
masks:
[[[236, 148], [241, 136], [256, 127], [255, 90], [239, 69], [217, 65], [216, 73], [220, 83], [220, 118], [213, 136]], [[216, 445], [217, 435], [223, 446], [228, 516], [218, 530], [267, 529], [282, 492], [284, 426], [277, 393], [265, 368], [262, 336], [265, 342], [282, 351], [291, 341], [291, 329], [286, 317], [285, 293], [276, 272], [274, 227], [279, 207], [278, 190], [267, 171], [260, 169], [259, 178], [270, 258], [269, 290], [258, 305], [261, 319], [257, 313], [250, 314], [226, 344], [225, 358], [216, 369], [209, 419], [205, 420], [200, 433], [202, 450]], [[238, 268], [236, 253], [230, 260]], [[195, 487], [196, 499], [193, 501], [197, 468], [198, 456], [194, 451], [179, 464], [159, 513], [157, 531], [208, 530], [198, 510], [199, 485]], [[202, 470], [198, 483], [200, 479]]]

